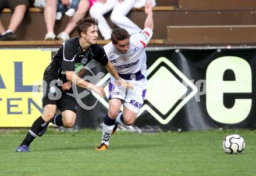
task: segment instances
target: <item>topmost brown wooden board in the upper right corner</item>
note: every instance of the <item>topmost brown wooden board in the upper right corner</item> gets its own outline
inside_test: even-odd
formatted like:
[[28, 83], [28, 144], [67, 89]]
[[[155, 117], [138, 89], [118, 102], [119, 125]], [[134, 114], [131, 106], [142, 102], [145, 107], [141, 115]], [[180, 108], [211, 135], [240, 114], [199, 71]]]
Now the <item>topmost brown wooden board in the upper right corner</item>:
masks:
[[179, 0], [180, 10], [254, 10], [255, 0]]

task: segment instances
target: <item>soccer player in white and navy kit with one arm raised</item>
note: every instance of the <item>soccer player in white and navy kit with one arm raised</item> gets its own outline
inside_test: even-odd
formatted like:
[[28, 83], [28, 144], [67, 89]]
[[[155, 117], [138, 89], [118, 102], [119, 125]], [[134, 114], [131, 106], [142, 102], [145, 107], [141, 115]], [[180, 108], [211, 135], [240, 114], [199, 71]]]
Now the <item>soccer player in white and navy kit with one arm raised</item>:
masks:
[[[109, 110], [103, 120], [101, 144], [95, 150], [106, 150], [109, 146], [111, 134], [117, 125], [132, 125], [137, 114], [143, 106], [147, 85], [147, 56], [145, 47], [152, 37], [154, 28], [152, 3], [145, 6], [147, 19], [144, 29], [134, 35], [124, 28], [116, 28], [112, 31], [112, 42], [104, 46], [104, 51], [118, 71], [123, 81], [129, 81], [134, 88], [125, 89], [116, 84], [115, 78], [110, 77], [109, 83]], [[123, 112], [120, 107], [123, 105]]]

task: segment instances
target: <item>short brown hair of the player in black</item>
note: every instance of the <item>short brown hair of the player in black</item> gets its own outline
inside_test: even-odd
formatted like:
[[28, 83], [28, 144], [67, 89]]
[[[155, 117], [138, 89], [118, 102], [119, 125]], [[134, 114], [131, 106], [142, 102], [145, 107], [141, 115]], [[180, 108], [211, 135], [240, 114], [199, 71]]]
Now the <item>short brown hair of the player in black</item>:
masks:
[[76, 29], [79, 36], [81, 36], [81, 33], [86, 33], [88, 27], [91, 27], [94, 25], [98, 26], [98, 20], [94, 19], [93, 17], [88, 17], [86, 19], [80, 19], [79, 21], [77, 21]]

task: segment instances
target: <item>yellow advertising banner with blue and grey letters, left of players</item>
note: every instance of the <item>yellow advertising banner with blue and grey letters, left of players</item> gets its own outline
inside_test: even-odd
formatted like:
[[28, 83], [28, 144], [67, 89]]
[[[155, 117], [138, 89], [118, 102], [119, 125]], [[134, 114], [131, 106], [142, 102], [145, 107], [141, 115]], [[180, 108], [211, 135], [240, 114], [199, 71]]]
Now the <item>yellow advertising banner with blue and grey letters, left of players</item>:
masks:
[[51, 51], [0, 50], [0, 127], [30, 127], [43, 110], [42, 78]]

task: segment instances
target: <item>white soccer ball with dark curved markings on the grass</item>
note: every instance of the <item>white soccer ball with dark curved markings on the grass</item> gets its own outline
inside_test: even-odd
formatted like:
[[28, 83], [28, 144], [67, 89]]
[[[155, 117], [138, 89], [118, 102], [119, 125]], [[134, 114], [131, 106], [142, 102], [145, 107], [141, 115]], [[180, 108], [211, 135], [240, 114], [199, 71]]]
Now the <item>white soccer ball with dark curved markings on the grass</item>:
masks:
[[227, 135], [223, 140], [223, 150], [229, 154], [239, 154], [246, 146], [244, 139], [237, 134]]

